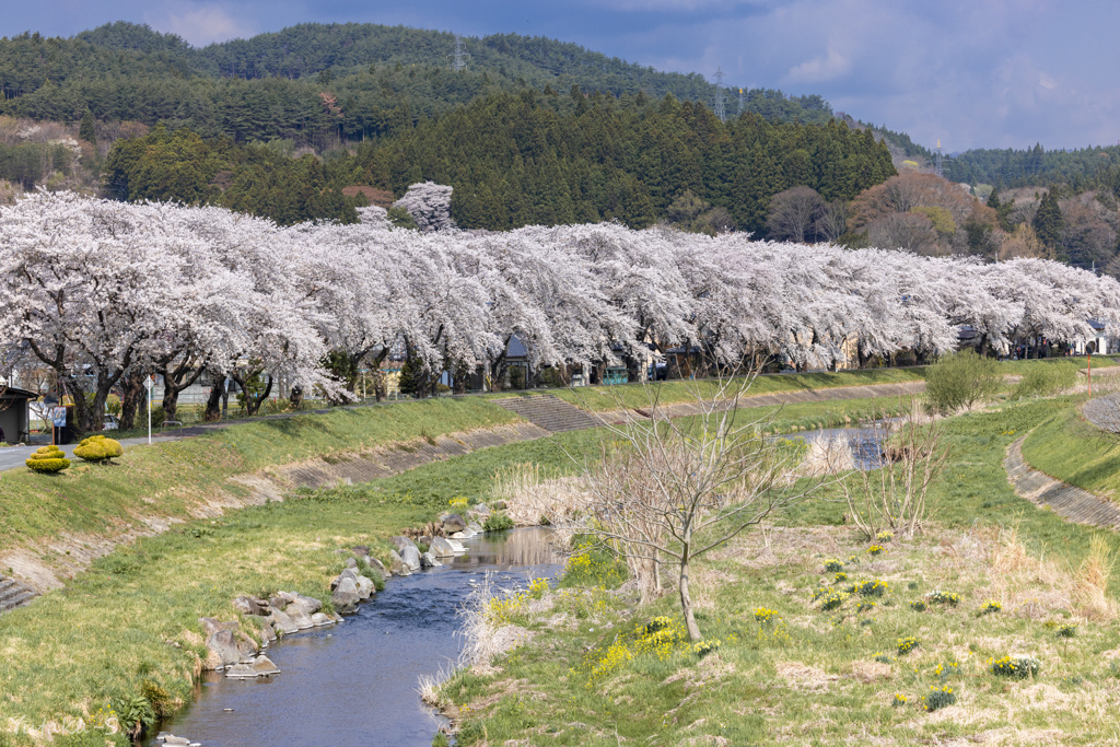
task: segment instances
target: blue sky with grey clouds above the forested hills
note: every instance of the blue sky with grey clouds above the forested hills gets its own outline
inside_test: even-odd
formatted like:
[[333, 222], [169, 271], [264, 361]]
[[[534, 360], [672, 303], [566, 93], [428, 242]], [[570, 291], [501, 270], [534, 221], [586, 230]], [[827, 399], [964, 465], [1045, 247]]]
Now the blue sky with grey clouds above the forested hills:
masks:
[[824, 96], [946, 152], [1120, 142], [1109, 0], [4, 0], [0, 36], [144, 22], [195, 45], [308, 21], [547, 36], [732, 86]]

